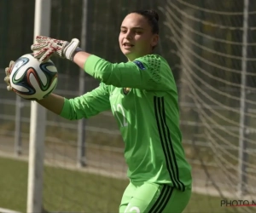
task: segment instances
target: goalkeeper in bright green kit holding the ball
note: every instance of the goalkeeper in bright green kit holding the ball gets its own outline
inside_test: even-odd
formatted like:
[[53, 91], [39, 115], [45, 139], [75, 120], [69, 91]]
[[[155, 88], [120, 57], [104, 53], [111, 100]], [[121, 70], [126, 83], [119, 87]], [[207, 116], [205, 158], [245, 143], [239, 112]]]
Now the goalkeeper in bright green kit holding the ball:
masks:
[[[130, 179], [119, 212], [182, 212], [191, 195], [176, 84], [166, 60], [153, 53], [159, 40], [158, 19], [152, 10], [125, 17], [119, 33], [119, 47], [128, 59], [125, 63], [113, 64], [84, 52], [76, 38], [68, 43], [38, 36], [32, 44], [38, 60], [61, 56], [101, 82], [85, 95], [67, 100], [51, 94], [38, 103], [70, 120], [112, 110], [125, 141]], [[5, 80], [9, 83], [8, 77]]]

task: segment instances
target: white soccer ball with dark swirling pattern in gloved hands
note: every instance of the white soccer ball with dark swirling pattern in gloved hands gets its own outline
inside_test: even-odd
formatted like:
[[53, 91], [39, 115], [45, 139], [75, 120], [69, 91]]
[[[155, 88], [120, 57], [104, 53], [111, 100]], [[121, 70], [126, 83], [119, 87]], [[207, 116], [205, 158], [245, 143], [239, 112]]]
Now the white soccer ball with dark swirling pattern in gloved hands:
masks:
[[38, 101], [55, 89], [57, 77], [57, 69], [51, 60], [41, 63], [32, 54], [26, 54], [15, 61], [10, 84], [20, 97]]

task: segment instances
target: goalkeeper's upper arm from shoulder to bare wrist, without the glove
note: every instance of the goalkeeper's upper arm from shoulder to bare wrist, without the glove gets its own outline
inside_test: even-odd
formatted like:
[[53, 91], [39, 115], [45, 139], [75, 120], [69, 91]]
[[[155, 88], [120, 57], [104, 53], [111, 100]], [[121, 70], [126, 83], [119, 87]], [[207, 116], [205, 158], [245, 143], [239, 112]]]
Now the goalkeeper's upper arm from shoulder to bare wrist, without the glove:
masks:
[[96, 55], [78, 52], [73, 62], [90, 76], [108, 85], [148, 90], [170, 89], [171, 70], [162, 66], [157, 55], [148, 55], [126, 63], [110, 63]]

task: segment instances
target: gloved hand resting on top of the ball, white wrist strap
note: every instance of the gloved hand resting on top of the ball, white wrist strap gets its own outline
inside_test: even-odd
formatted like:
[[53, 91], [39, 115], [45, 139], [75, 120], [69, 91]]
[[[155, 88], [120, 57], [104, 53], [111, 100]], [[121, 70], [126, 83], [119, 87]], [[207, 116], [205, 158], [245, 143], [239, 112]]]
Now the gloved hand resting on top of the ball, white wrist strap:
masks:
[[36, 43], [32, 44], [31, 49], [34, 57], [41, 62], [49, 60], [52, 55], [73, 60], [73, 55], [81, 50], [79, 43], [77, 38], [68, 43], [51, 37], [37, 36]]

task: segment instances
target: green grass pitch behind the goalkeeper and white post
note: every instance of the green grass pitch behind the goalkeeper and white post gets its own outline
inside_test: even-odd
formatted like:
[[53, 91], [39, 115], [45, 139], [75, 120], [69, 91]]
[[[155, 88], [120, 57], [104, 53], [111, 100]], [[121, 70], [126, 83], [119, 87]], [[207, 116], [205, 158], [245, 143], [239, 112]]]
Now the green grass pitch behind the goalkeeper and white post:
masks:
[[[0, 207], [26, 212], [27, 163], [0, 158]], [[46, 166], [44, 208], [61, 212], [118, 212], [126, 180]], [[185, 213], [238, 212], [220, 199], [193, 193]], [[237, 210], [237, 209], [236, 209]]]

